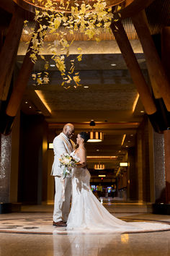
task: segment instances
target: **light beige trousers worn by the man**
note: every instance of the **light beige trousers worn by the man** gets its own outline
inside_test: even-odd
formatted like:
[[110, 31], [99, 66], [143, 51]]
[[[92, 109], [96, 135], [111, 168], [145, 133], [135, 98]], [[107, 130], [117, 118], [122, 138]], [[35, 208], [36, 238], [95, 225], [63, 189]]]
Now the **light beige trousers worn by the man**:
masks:
[[65, 178], [65, 200], [63, 201], [63, 186], [60, 176], [55, 176], [55, 199], [53, 221], [67, 221], [71, 202], [71, 177]]

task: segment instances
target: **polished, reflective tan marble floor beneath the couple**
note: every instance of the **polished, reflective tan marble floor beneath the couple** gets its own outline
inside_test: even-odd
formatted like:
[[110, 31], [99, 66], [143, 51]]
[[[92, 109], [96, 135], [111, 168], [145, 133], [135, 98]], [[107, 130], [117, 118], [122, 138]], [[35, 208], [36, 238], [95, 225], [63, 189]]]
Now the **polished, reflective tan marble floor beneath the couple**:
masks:
[[[114, 212], [115, 206], [108, 206]], [[170, 216], [138, 212], [114, 213], [125, 221], [169, 223]], [[170, 231], [136, 234], [55, 234], [52, 224], [53, 205], [25, 206], [21, 213], [0, 215], [1, 256], [71, 256], [71, 255], [170, 255]], [[137, 213], [138, 212], [138, 213]], [[45, 229], [48, 226], [48, 230]], [[37, 229], [34, 229], [37, 227]], [[40, 232], [42, 227], [42, 232]]]

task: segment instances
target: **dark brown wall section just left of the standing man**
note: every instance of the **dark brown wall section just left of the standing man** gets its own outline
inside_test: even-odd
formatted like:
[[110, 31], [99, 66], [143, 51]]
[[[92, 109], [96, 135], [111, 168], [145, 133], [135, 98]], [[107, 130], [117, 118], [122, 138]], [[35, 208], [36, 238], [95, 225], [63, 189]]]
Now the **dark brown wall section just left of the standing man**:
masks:
[[47, 132], [47, 123], [43, 116], [21, 114], [19, 202], [41, 204], [42, 200], [46, 199]]

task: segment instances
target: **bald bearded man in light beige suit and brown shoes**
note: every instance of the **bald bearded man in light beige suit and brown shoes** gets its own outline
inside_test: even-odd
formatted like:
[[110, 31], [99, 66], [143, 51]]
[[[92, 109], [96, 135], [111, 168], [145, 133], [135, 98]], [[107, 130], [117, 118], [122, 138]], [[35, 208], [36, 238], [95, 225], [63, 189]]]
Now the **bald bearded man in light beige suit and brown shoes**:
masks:
[[70, 140], [73, 132], [73, 124], [65, 124], [63, 132], [53, 140], [54, 162], [51, 171], [51, 175], [55, 177], [53, 226], [67, 226], [66, 221], [71, 202], [71, 177], [66, 177], [64, 180], [61, 177], [63, 169], [60, 166], [59, 158], [63, 153], [73, 152], [75, 144]]

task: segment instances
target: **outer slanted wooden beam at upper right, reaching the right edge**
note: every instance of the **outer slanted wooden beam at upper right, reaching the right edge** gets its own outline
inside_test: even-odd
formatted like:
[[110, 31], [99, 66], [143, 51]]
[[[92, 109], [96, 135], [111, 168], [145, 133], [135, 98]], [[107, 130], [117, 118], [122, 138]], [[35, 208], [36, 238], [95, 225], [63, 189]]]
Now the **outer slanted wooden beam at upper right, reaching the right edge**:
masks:
[[161, 59], [158, 56], [156, 47], [154, 46], [151, 38], [145, 11], [143, 10], [142, 12], [139, 12], [133, 16], [132, 20], [146, 57], [146, 64], [148, 67], [149, 76], [151, 77], [153, 92], [158, 90], [157, 97], [164, 99], [166, 108], [168, 111], [170, 111], [170, 85], [164, 72]]

